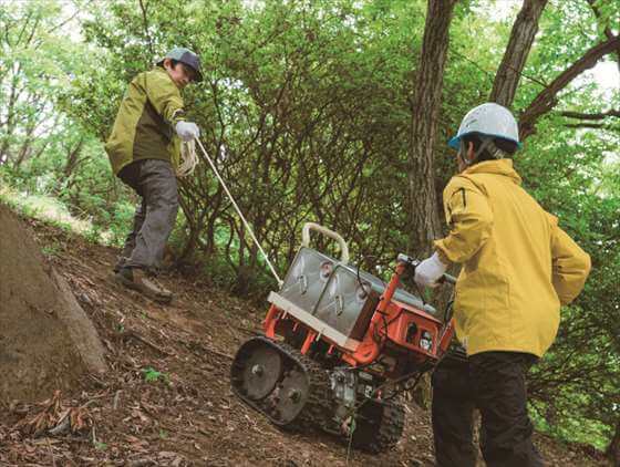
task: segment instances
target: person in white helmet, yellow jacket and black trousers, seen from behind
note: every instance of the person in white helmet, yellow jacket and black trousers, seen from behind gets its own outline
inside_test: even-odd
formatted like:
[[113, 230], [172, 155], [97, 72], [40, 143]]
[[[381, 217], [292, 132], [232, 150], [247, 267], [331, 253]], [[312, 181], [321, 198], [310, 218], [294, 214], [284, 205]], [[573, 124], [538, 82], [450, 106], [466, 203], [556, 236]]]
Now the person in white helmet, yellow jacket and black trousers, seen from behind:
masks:
[[418, 284], [436, 287], [451, 263], [462, 264], [454, 320], [466, 355], [448, 354], [433, 374], [437, 466], [476, 465], [474, 408], [487, 466], [542, 466], [525, 374], [554, 342], [560, 305], [583, 288], [590, 258], [521, 188], [506, 158], [519, 147], [507, 108], [475, 107], [450, 145], [458, 149], [458, 174], [443, 195], [450, 234], [415, 271]]

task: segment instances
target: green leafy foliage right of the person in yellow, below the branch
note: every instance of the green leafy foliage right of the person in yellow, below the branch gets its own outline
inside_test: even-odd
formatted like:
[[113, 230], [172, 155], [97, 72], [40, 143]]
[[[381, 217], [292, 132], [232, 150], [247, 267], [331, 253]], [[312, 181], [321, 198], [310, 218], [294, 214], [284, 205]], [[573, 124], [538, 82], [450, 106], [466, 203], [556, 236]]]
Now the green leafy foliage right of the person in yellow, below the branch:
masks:
[[559, 122], [552, 116], [539, 124], [518, 167], [529, 191], [590, 253], [592, 272], [583, 293], [562, 310], [558, 338], [535, 369], [530, 393], [547, 421], [541, 427], [603, 448], [620, 407], [620, 196], [619, 185], [609, 184], [619, 172], [606, 163], [620, 136], [576, 132]]

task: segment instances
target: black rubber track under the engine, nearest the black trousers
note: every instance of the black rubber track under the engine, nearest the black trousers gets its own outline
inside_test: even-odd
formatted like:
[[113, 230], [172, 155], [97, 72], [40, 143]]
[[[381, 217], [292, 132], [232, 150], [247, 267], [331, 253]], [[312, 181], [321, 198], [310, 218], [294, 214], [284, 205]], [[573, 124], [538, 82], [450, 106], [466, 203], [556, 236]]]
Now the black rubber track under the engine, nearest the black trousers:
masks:
[[401, 439], [404, 421], [402, 403], [366, 401], [356, 414], [353, 446], [366, 453], [383, 453]]

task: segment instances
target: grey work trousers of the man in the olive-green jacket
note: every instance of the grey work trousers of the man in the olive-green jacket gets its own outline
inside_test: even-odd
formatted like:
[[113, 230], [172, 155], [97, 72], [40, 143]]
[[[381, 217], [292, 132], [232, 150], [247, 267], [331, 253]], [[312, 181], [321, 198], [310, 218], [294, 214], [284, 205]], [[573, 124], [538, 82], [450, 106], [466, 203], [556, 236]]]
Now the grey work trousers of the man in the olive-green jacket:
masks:
[[178, 189], [173, 166], [167, 160], [142, 159], [118, 174], [142, 201], [136, 206], [133, 230], [123, 247], [125, 266], [149, 269], [159, 264], [178, 211]]

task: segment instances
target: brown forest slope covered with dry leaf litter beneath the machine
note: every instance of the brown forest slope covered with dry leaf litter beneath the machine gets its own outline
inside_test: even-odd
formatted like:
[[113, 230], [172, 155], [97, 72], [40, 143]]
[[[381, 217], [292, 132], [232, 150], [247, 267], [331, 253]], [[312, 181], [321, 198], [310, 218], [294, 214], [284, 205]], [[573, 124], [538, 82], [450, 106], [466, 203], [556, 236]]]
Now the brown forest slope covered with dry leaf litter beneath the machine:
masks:
[[[432, 466], [428, 411], [406, 406], [405, 433], [390, 453], [349, 452], [322, 433], [291, 434], [230, 392], [231, 356], [260, 333], [256, 308], [200, 280], [166, 274], [175, 292], [158, 305], [110, 278], [116, 252], [29, 220], [48, 261], [71, 284], [107, 351], [108, 371], [41, 404], [0, 405], [0, 466]], [[73, 408], [76, 433], [33, 434], [33, 419]], [[78, 416], [76, 415], [76, 416]], [[38, 421], [41, 417], [37, 418]], [[30, 433], [29, 433], [30, 432]], [[604, 465], [588, 446], [541, 435], [551, 466]], [[480, 463], [480, 465], [484, 465]]]

